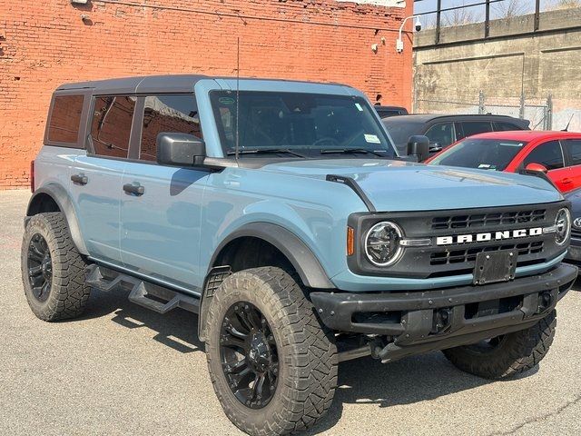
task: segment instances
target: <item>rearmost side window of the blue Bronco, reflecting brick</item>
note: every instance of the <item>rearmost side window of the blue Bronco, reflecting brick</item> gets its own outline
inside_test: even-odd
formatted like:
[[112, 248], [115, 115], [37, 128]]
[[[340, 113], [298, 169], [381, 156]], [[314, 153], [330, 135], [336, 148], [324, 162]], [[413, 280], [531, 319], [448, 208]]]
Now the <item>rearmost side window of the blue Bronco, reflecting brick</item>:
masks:
[[76, 144], [83, 113], [84, 95], [57, 95], [48, 125], [48, 140]]

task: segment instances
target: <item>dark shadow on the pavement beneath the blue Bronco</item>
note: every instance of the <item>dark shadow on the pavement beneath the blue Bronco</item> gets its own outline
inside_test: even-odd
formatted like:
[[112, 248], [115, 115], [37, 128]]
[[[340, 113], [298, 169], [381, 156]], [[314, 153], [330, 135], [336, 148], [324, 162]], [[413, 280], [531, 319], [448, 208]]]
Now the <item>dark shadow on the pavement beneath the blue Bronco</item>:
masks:
[[[576, 284], [579, 283], [581, 279]], [[198, 316], [191, 312], [177, 309], [162, 315], [129, 302], [126, 292], [94, 290], [87, 312], [81, 320], [111, 313], [114, 314], [113, 322], [125, 328], [146, 327], [157, 332], [153, 339], [173, 350], [183, 353], [204, 351], [204, 344], [198, 340], [197, 335]], [[537, 369], [521, 374], [518, 378], [528, 377], [535, 372]], [[332, 428], [340, 420], [344, 404], [377, 404], [379, 408], [413, 404], [467, 391], [490, 382], [460, 372], [441, 352], [430, 352], [389, 364], [371, 358], [342, 362], [339, 367], [339, 387], [330, 411], [307, 434], [317, 434]]]

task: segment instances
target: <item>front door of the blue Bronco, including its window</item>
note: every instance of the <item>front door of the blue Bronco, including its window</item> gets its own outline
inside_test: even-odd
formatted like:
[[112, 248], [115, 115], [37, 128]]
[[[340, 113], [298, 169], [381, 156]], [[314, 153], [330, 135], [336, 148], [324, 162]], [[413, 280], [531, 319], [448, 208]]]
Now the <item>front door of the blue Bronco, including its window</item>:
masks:
[[[209, 171], [156, 162], [156, 138], [162, 132], [202, 137], [193, 94], [156, 94], [140, 98], [135, 132], [136, 159], [126, 164], [126, 185], [143, 194], [122, 192], [123, 265], [186, 289], [200, 277], [202, 194]], [[133, 154], [133, 151], [132, 151]], [[121, 186], [119, 191], [121, 192]]]

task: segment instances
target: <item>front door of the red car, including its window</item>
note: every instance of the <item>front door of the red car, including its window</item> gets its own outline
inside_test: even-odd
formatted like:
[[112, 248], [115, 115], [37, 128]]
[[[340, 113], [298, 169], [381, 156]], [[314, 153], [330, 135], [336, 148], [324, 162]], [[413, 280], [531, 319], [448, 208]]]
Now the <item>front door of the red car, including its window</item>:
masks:
[[537, 144], [527, 156], [525, 156], [521, 168], [526, 168], [529, 163], [540, 163], [547, 168], [548, 177], [556, 184], [561, 192], [572, 189], [571, 169], [566, 167], [566, 154], [558, 141], [546, 141]]

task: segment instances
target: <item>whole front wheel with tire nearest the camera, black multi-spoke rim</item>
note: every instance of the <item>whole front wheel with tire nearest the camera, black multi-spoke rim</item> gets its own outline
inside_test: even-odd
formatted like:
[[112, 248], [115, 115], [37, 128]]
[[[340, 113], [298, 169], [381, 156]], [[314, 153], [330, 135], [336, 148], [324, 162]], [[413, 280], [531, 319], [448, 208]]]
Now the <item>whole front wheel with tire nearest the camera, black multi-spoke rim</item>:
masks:
[[337, 348], [297, 280], [273, 267], [235, 272], [208, 311], [212, 384], [241, 431], [292, 434], [320, 420], [337, 386]]

